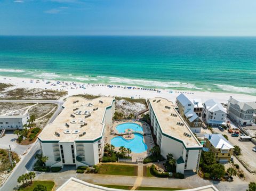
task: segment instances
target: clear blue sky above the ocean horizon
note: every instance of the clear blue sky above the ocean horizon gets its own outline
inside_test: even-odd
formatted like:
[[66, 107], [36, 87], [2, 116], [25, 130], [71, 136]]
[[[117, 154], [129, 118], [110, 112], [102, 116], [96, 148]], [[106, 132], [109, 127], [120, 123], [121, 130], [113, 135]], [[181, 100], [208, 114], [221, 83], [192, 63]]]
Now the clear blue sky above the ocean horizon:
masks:
[[256, 36], [256, 1], [0, 0], [0, 35]]

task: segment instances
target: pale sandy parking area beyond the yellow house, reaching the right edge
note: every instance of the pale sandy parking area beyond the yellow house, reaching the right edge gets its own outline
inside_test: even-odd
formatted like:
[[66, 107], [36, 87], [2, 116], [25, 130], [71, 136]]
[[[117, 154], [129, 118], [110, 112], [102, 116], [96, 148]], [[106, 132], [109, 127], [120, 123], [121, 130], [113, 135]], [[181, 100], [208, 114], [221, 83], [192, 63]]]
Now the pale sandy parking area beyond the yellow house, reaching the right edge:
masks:
[[237, 145], [241, 148], [242, 155], [239, 158], [252, 170], [256, 171], [256, 152], [252, 151], [252, 148], [256, 146], [252, 142], [241, 142], [239, 137], [231, 137], [231, 134], [227, 131], [220, 131], [218, 128], [213, 128], [214, 132], [228, 136], [228, 141], [234, 146]]

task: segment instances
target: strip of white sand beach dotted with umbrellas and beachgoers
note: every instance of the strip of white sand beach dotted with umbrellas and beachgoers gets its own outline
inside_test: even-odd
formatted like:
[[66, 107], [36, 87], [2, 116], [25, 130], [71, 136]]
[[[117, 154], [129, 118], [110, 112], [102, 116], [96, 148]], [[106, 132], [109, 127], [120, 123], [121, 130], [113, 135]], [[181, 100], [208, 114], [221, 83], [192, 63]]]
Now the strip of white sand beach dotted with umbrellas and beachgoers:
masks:
[[[46, 82], [49, 81], [49, 84]], [[65, 90], [68, 92], [68, 96], [76, 94], [92, 94], [92, 95], [105, 95], [105, 96], [121, 96], [121, 97], [134, 97], [134, 98], [153, 98], [153, 97], [164, 97], [175, 102], [175, 98], [182, 92], [189, 98], [201, 98], [202, 101], [214, 98], [221, 103], [227, 103], [230, 96], [240, 101], [256, 101], [256, 96], [245, 95], [245, 94], [233, 94], [233, 93], [214, 93], [214, 92], [191, 92], [187, 90], [173, 90], [173, 93], [169, 93], [170, 90], [158, 89], [161, 92], [153, 90], [142, 90], [137, 89], [138, 87], [132, 87], [127, 89], [126, 86], [117, 85], [115, 87], [108, 87], [107, 85], [100, 84], [85, 84], [82, 82], [70, 82], [70, 81], [59, 81], [57, 80], [42, 80], [42, 79], [27, 79], [17, 77], [3, 77], [0, 76], [0, 82], [6, 84], [13, 84], [13, 88], [43, 88], [43, 89], [54, 89], [54, 90]]]

